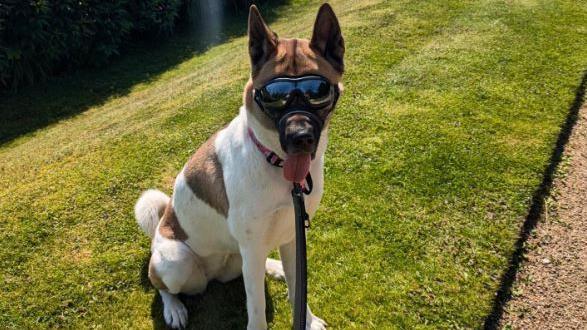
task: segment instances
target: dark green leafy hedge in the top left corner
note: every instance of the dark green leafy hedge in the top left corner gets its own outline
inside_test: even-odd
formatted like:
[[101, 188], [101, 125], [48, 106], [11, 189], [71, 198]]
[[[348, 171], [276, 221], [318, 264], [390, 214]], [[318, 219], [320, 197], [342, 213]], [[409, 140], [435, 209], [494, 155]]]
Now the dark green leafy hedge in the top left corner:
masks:
[[104, 65], [128, 40], [170, 34], [188, 2], [0, 1], [0, 88]]

